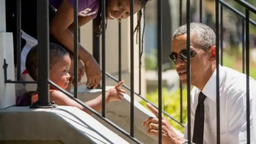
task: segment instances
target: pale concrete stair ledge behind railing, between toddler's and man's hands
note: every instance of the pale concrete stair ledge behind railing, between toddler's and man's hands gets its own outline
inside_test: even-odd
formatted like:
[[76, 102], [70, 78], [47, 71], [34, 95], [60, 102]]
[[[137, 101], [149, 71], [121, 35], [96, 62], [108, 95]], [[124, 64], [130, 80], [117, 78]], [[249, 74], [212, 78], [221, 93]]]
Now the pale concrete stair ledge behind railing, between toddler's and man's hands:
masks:
[[[112, 86], [113, 87], [113, 86]], [[111, 86], [107, 86], [106, 90], [110, 89]], [[71, 90], [72, 93], [73, 90]], [[99, 96], [102, 93], [101, 89], [87, 89], [85, 85], [78, 86], [78, 98], [83, 101], [87, 102]], [[124, 94], [124, 99], [121, 102], [110, 102], [106, 105], [106, 117], [114, 122], [116, 125], [123, 128], [125, 131], [130, 133], [130, 125], [131, 125], [131, 98], [129, 95]], [[127, 142], [133, 144], [134, 142], [127, 138], [125, 135], [117, 131], [115, 128], [101, 120], [97, 116], [93, 116], [97, 119], [100, 123], [108, 127], [111, 131], [118, 134]], [[148, 136], [146, 133], [146, 128], [142, 127], [142, 123], [148, 117], [155, 117], [155, 115], [142, 106], [139, 102], [134, 101], [134, 136], [145, 144], [156, 144], [158, 143], [158, 138], [155, 136]], [[178, 130], [174, 131], [183, 137], [183, 134], [180, 133]]]

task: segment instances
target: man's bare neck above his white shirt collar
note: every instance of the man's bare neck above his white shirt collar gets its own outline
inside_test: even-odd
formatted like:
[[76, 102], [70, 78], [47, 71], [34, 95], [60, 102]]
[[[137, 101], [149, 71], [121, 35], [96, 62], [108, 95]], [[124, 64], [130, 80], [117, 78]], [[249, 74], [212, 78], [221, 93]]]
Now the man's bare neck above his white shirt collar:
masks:
[[197, 83], [196, 83], [196, 87], [200, 90], [203, 90], [204, 86], [206, 85], [206, 83], [210, 80], [210, 78], [212, 77], [213, 72], [216, 69], [216, 64], [213, 64], [209, 70], [203, 75], [201, 76]]

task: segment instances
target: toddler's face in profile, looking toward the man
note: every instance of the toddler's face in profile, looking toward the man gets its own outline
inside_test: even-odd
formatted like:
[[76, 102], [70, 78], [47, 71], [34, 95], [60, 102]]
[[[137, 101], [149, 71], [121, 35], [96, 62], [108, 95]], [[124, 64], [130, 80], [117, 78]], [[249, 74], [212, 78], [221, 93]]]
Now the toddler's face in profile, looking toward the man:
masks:
[[66, 89], [68, 87], [70, 75], [68, 70], [70, 68], [71, 60], [69, 55], [59, 58], [58, 62], [50, 69], [50, 80]]

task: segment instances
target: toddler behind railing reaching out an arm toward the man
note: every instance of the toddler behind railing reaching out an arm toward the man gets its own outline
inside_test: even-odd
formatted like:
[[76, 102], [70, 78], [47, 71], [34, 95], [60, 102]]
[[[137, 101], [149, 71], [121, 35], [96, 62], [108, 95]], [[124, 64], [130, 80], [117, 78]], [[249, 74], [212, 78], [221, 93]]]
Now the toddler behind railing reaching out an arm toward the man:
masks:
[[[50, 71], [49, 78], [58, 86], [66, 89], [72, 85], [72, 78], [70, 77], [68, 70], [71, 65], [71, 59], [69, 53], [66, 49], [62, 48], [60, 45], [50, 43], [49, 48], [49, 59], [50, 59]], [[38, 78], [38, 60], [37, 60], [37, 45], [33, 47], [27, 55], [26, 58], [26, 69], [31, 78], [37, 81]], [[121, 89], [124, 81], [119, 82], [114, 88], [111, 88], [106, 92], [106, 103], [111, 101], [121, 101], [125, 90]], [[31, 99], [30, 99], [31, 98]], [[28, 100], [31, 100], [28, 102]], [[37, 90], [33, 94], [25, 94], [21, 100], [17, 100], [17, 106], [28, 106], [30, 102], [36, 102], [38, 100]], [[50, 101], [54, 101], [57, 105], [74, 106], [85, 112], [92, 114], [89, 110], [70, 99], [67, 95], [50, 86]], [[99, 111], [101, 109], [102, 96], [85, 102], [87, 105], [92, 107], [94, 110]]]

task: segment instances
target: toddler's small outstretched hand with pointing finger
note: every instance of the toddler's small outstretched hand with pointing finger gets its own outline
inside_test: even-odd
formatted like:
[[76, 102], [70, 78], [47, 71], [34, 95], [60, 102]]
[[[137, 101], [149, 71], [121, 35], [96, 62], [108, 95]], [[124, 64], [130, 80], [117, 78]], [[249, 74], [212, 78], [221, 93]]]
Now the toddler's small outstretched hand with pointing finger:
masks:
[[126, 91], [121, 89], [123, 83], [124, 81], [121, 81], [115, 87], [108, 90], [106, 93], [107, 102], [121, 101], [123, 99], [123, 94], [126, 94]]

